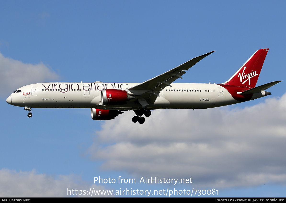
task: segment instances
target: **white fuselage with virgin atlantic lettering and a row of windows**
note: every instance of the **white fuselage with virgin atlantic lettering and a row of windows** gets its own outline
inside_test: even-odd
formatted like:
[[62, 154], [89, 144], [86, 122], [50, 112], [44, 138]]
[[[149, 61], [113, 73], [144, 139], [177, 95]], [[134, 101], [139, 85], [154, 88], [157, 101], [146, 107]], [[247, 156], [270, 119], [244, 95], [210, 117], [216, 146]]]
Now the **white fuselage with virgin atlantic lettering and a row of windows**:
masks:
[[[37, 83], [19, 88], [21, 92], [12, 93], [6, 101], [14, 106], [30, 108], [136, 110], [142, 106], [132, 99], [124, 105], [102, 105], [101, 91], [127, 90], [137, 84], [139, 83]], [[263, 96], [265, 96], [264, 91], [254, 93], [251, 99]], [[236, 103], [240, 102], [219, 84], [172, 83], [172, 87], [168, 86], [161, 91], [154, 105], [149, 104], [146, 109], [206, 109]]]

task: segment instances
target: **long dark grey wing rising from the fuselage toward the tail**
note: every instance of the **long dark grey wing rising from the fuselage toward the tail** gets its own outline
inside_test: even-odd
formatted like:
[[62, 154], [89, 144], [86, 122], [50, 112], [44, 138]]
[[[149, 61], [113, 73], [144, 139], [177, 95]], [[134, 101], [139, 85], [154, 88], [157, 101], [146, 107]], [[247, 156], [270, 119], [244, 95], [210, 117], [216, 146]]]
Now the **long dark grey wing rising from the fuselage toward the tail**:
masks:
[[138, 98], [138, 102], [143, 107], [147, 106], [148, 103], [154, 104], [156, 98], [159, 96], [160, 91], [162, 91], [167, 86], [172, 87], [171, 83], [179, 77], [182, 78], [182, 75], [186, 73], [185, 70], [188, 70], [190, 67], [198, 63], [204, 57], [210, 55], [212, 52], [214, 51], [195, 57], [187, 61], [186, 63], [183, 63], [182, 65], [179, 65], [178, 67], [167, 71], [166, 73], [163, 73], [143, 83], [130, 87], [128, 88], [128, 90], [134, 96], [136, 96], [136, 98]]

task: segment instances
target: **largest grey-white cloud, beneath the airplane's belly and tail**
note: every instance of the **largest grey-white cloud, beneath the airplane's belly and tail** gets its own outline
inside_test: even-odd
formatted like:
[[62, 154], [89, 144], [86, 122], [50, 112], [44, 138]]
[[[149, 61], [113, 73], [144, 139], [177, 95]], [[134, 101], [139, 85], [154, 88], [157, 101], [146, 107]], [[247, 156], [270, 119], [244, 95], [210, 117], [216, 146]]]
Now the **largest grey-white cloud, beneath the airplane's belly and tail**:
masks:
[[286, 184], [286, 94], [244, 109], [155, 110], [142, 125], [133, 114], [96, 132], [90, 154], [103, 170], [217, 188]]

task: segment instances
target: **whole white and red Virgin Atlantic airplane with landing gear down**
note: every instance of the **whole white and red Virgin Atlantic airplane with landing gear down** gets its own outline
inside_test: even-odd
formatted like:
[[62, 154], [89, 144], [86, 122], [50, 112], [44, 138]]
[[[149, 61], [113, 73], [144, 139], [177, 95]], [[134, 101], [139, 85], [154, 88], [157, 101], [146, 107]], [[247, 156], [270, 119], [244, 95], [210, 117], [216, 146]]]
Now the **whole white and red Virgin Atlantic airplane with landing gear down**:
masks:
[[6, 102], [24, 107], [29, 118], [31, 108], [90, 108], [93, 120], [111, 120], [133, 110], [132, 122], [143, 124], [150, 110], [207, 109], [270, 95], [265, 89], [281, 81], [255, 87], [268, 50], [257, 50], [221, 84], [173, 83], [211, 51], [142, 83], [36, 83], [20, 87]]

